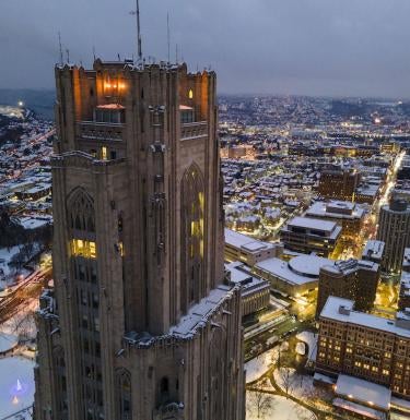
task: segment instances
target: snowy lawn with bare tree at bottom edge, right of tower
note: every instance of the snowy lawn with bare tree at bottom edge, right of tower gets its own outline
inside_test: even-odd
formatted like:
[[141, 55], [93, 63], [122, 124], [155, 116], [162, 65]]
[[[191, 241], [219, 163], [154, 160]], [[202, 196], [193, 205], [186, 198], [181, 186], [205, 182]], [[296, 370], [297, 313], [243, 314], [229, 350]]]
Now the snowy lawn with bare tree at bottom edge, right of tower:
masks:
[[[316, 416], [306, 408], [294, 403], [292, 399], [279, 395], [263, 394], [263, 403], [267, 401], [268, 408], [263, 416], [257, 415], [257, 394], [254, 392], [246, 393], [246, 420], [315, 420]], [[259, 404], [260, 406], [260, 404]]]

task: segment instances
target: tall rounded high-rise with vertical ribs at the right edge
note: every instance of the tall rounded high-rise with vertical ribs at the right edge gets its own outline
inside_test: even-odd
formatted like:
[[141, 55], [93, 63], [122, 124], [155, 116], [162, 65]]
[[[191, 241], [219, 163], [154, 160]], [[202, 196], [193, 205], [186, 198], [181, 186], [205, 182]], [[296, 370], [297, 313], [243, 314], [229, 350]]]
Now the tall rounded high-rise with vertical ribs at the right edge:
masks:
[[410, 208], [405, 201], [394, 199], [380, 208], [377, 239], [385, 242], [382, 268], [400, 273], [405, 248], [410, 244]]

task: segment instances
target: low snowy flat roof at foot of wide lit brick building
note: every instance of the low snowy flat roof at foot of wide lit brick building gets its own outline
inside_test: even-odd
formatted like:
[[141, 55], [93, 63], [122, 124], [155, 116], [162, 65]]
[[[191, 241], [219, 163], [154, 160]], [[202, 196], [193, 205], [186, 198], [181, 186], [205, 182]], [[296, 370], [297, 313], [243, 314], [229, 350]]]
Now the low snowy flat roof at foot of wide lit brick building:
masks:
[[340, 374], [336, 383], [335, 393], [362, 401], [366, 405], [374, 405], [388, 410], [391, 399], [391, 391], [386, 386], [373, 382], [360, 380], [359, 377]]

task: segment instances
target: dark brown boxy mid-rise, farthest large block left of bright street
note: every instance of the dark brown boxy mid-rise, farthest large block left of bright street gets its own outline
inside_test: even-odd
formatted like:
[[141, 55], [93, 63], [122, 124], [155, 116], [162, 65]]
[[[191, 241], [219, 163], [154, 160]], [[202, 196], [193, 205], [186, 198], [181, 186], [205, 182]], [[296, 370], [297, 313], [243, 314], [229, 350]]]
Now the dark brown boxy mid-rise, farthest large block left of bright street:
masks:
[[359, 182], [360, 173], [355, 169], [325, 169], [320, 173], [318, 192], [326, 199], [353, 201]]

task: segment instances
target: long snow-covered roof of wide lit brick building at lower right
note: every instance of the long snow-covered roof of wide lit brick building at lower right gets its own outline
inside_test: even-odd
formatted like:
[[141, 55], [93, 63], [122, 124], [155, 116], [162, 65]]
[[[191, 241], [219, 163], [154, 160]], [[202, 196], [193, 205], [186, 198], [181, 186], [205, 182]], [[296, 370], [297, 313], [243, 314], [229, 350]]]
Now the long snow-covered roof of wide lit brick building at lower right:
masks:
[[[329, 296], [324, 309], [320, 312], [320, 317], [326, 317], [328, 320], [339, 321], [347, 324], [361, 325], [366, 328], [378, 329], [386, 333], [396, 334], [405, 338], [410, 338], [410, 329], [397, 326], [395, 321], [387, 320], [382, 316], [371, 315], [364, 312], [354, 311], [353, 307], [353, 300]], [[344, 308], [344, 311], [340, 311], [340, 308]]]

